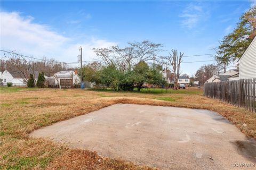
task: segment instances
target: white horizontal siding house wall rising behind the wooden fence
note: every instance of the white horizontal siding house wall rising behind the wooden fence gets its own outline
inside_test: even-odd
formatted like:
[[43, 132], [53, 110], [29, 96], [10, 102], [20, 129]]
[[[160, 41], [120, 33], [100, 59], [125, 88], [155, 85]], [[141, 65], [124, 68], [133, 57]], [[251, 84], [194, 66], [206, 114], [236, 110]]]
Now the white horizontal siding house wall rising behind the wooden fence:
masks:
[[256, 36], [238, 62], [239, 79], [256, 78]]

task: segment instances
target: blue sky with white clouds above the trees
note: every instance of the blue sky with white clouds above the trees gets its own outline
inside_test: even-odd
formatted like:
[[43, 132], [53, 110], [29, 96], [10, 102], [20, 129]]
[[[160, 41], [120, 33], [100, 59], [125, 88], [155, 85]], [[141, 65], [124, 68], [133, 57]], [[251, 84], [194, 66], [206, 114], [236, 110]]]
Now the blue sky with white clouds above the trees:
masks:
[[[162, 43], [167, 55], [210, 54], [255, 1], [1, 1], [1, 49], [23, 55], [77, 60], [95, 58], [91, 48], [124, 46], [129, 41]], [[186, 57], [184, 62], [213, 60]], [[182, 73], [203, 64], [184, 63]], [[73, 65], [78, 66], [78, 64]]]

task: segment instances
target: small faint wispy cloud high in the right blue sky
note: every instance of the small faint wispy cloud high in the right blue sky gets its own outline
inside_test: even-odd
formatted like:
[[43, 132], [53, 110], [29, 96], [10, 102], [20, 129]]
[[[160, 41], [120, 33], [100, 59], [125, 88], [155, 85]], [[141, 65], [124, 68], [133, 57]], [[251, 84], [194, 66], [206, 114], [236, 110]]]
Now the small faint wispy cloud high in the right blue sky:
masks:
[[209, 14], [203, 10], [202, 5], [190, 3], [180, 15], [180, 17], [183, 18], [181, 23], [184, 27], [191, 29], [196, 27], [199, 21], [205, 20], [208, 15]]

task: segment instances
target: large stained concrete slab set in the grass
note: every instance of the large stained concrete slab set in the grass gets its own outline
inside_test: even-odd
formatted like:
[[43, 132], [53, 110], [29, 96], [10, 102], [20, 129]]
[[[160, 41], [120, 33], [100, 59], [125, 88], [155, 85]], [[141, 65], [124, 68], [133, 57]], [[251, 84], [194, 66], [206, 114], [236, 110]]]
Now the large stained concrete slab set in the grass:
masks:
[[255, 140], [218, 113], [198, 109], [116, 104], [30, 136], [163, 169], [241, 169], [235, 166], [256, 163]]

